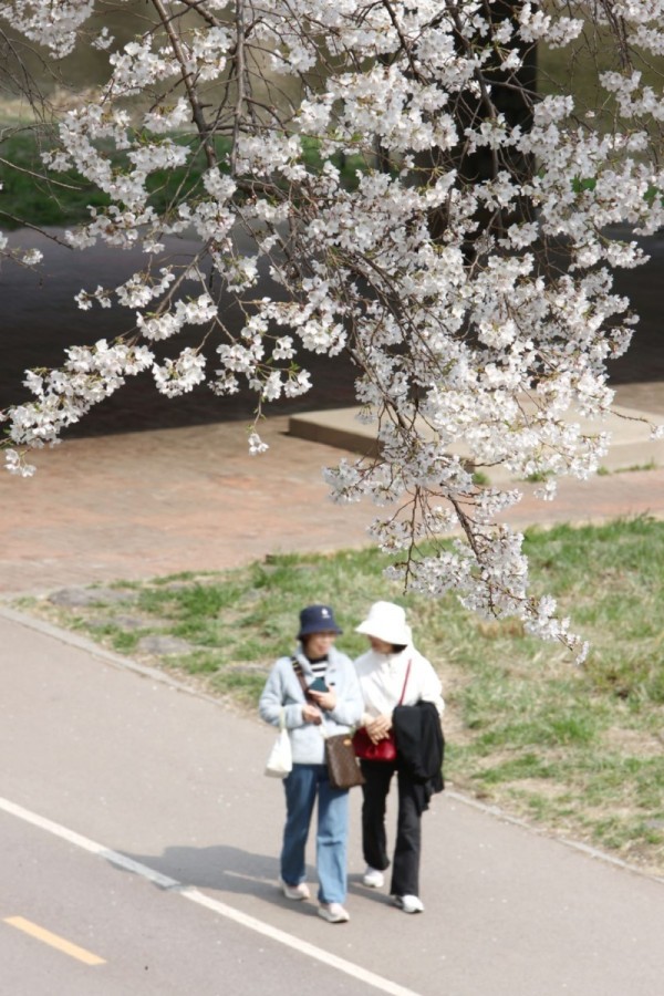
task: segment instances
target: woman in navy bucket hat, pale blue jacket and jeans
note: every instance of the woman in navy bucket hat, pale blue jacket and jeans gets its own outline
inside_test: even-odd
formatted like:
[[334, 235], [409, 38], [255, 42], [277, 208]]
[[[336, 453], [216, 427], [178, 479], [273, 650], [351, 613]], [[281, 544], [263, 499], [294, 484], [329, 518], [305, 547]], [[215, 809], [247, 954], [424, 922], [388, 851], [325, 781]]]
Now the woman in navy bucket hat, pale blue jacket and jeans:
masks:
[[[330, 605], [302, 609], [295, 652], [274, 662], [259, 703], [263, 719], [273, 726], [284, 723], [293, 755], [292, 771], [283, 779], [286, 826], [279, 884], [289, 900], [310, 898], [304, 852], [318, 799], [318, 912], [329, 923], [350, 919], [343, 905], [349, 792], [330, 785], [324, 736], [349, 733], [362, 716], [355, 668], [334, 646], [341, 632]], [[314, 682], [320, 691], [310, 687]]]

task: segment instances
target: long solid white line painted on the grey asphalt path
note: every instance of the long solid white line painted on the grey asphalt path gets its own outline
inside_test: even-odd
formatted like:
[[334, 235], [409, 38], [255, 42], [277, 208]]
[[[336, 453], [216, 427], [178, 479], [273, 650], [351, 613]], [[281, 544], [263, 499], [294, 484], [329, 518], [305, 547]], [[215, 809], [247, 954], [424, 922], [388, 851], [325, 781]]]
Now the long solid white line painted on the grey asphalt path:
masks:
[[373, 986], [382, 993], [387, 993], [390, 996], [419, 996], [419, 994], [415, 993], [413, 989], [406, 989], [404, 986], [400, 986], [388, 978], [384, 978], [366, 968], [362, 968], [360, 965], [347, 962], [345, 958], [340, 958], [338, 955], [331, 954], [322, 947], [309, 944], [309, 942], [302, 941], [300, 937], [294, 937], [292, 934], [286, 933], [286, 931], [280, 931], [278, 927], [263, 923], [255, 916], [249, 916], [247, 913], [241, 913], [239, 910], [235, 910], [226, 903], [220, 903], [218, 900], [205, 895], [205, 893], [193, 885], [184, 885], [176, 879], [164, 875], [149, 868], [147, 864], [142, 864], [139, 861], [126, 858], [118, 851], [112, 851], [110, 848], [105, 848], [103, 844], [96, 843], [94, 840], [90, 840], [90, 838], [76, 833], [75, 830], [69, 830], [61, 823], [55, 823], [46, 817], [31, 812], [31, 810], [24, 809], [22, 806], [18, 806], [9, 799], [0, 797], [0, 810], [10, 813], [27, 823], [31, 823], [40, 830], [45, 830], [48, 833], [61, 838], [61, 840], [66, 840], [69, 843], [83, 851], [95, 854], [97, 858], [103, 858], [110, 864], [117, 865], [125, 871], [131, 871], [134, 874], [146, 879], [148, 882], [152, 882], [154, 885], [158, 885], [160, 889], [175, 892], [183, 899], [211, 910], [214, 913], [225, 916], [227, 920], [231, 920], [234, 923], [247, 927], [250, 931], [255, 931], [257, 934], [262, 934], [263, 936], [276, 941], [278, 944], [283, 944], [286, 947], [292, 947], [293, 951], [297, 951], [300, 954], [314, 958], [318, 962], [322, 962], [331, 968], [336, 968], [339, 972], [343, 972], [359, 982], [366, 983], [366, 985]]

